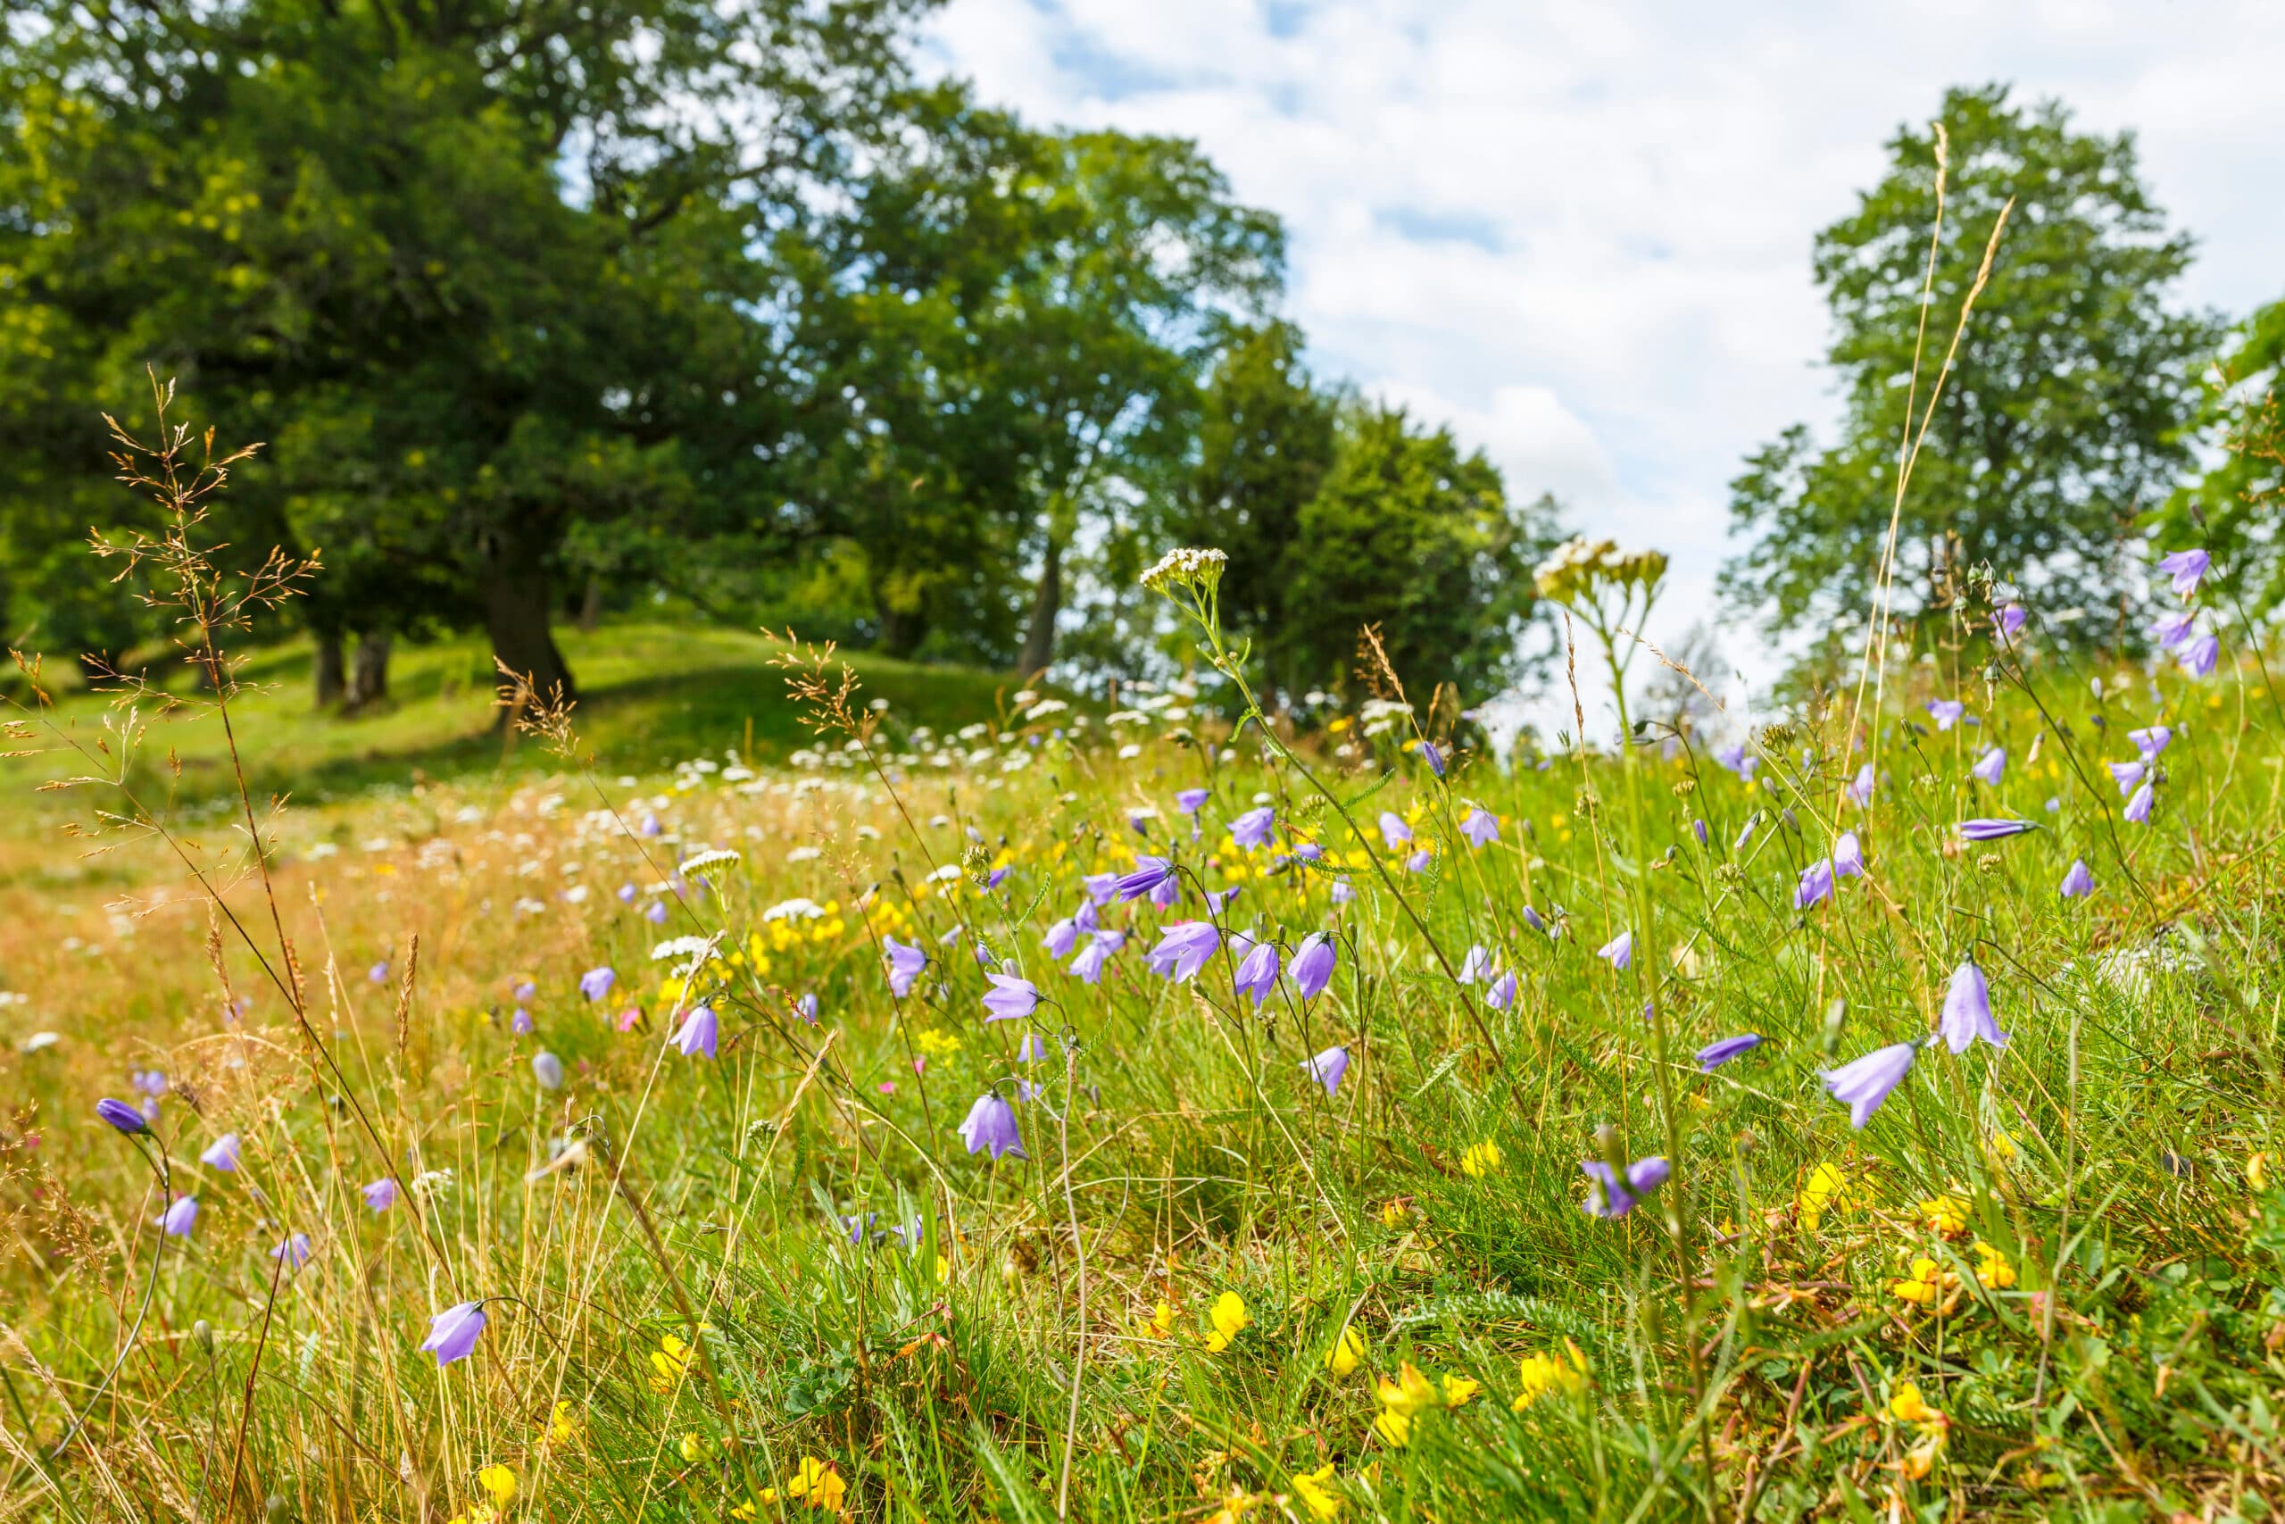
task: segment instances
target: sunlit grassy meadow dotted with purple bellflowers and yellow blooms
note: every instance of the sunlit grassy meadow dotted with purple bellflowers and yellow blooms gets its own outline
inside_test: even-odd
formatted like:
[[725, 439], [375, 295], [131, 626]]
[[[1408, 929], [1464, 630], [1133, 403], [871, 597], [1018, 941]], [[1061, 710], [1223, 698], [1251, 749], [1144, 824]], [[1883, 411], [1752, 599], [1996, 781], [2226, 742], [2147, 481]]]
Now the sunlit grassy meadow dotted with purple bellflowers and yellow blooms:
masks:
[[1218, 576], [1113, 704], [27, 690], [9, 1517], [2271, 1515], [2285, 731], [2196, 576], [1506, 759], [1264, 713]]

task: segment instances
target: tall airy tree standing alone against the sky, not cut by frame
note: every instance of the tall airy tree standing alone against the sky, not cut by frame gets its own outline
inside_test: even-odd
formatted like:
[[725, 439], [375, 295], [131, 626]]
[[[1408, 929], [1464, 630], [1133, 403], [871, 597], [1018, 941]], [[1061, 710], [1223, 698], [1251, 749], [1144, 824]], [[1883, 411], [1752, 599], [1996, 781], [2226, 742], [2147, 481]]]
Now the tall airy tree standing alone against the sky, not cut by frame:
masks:
[[1817, 238], [1839, 439], [1819, 446], [1796, 425], [1746, 462], [1730, 514], [1755, 542], [1721, 585], [1773, 628], [1869, 605], [1908, 407], [1926, 407], [2013, 199], [1901, 507], [1894, 610], [1919, 617], [1988, 562], [2038, 599], [2047, 628], [2107, 637], [2146, 585], [2134, 514], [2191, 459], [2194, 372], [2216, 343], [2210, 318], [2166, 304], [2191, 240], [2166, 231], [2127, 133], [2077, 133], [2059, 103], [2022, 107], [2004, 87], [1947, 91], [1940, 121], [1951, 169], [1933, 299], [1922, 304], [1938, 144], [1906, 128], [1883, 181]]

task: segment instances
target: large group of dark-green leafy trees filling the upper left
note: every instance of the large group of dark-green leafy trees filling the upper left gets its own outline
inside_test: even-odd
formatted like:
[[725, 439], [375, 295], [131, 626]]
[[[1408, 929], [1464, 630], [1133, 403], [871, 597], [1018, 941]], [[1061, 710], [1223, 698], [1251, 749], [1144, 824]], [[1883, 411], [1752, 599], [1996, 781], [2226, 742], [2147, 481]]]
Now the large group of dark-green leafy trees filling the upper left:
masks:
[[1133, 672], [1222, 544], [1280, 690], [1517, 672], [1552, 512], [1312, 379], [1284, 240], [1188, 142], [921, 82], [914, 0], [18, 7], [0, 39], [0, 621], [160, 631], [103, 420], [144, 370], [265, 450], [215, 530], [322, 551], [322, 699], [482, 628], [670, 603], [896, 656]]

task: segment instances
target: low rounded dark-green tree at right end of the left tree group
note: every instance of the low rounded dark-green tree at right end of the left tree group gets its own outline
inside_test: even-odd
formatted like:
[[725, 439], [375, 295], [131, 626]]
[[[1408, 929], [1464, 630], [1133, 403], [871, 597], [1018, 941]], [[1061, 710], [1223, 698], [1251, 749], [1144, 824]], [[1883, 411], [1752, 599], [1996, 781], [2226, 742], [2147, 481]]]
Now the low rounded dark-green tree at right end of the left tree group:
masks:
[[1360, 407], [1293, 521], [1264, 660], [1289, 688], [1355, 692], [1357, 631], [1373, 624], [1417, 701], [1440, 683], [1488, 699], [1520, 674], [1531, 567], [1554, 546], [1554, 519], [1549, 498], [1510, 505], [1499, 471], [1449, 430]]

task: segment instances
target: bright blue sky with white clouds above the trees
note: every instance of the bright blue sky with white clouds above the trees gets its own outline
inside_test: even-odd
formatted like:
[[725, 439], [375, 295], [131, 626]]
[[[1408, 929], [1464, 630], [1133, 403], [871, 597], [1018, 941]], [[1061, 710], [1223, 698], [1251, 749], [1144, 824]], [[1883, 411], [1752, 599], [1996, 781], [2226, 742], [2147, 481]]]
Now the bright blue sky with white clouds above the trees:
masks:
[[1812, 235], [1947, 85], [2134, 128], [2182, 302], [2285, 297], [2280, 0], [951, 0], [928, 48], [1040, 123], [1197, 139], [1284, 219], [1312, 366], [1666, 551], [1661, 644], [1718, 617], [1746, 452], [1833, 418]]

